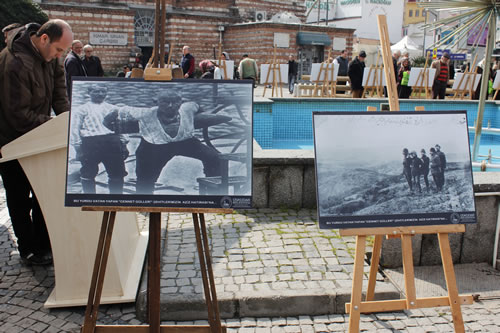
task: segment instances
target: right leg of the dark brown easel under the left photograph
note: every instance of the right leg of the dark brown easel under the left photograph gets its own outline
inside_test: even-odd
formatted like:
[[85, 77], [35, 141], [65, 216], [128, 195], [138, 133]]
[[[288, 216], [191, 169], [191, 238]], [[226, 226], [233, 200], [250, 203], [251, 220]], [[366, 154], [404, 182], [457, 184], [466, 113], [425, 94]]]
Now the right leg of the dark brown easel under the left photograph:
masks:
[[[219, 307], [217, 304], [217, 293], [215, 290], [215, 280], [212, 270], [212, 260], [208, 245], [208, 236], [203, 213], [193, 214], [194, 231], [196, 235], [196, 245], [198, 248], [198, 258], [200, 260], [201, 276], [203, 280], [203, 290], [205, 292], [205, 302], [207, 304], [208, 322], [212, 333], [221, 333], [221, 323]], [[201, 232], [200, 232], [201, 229]]]

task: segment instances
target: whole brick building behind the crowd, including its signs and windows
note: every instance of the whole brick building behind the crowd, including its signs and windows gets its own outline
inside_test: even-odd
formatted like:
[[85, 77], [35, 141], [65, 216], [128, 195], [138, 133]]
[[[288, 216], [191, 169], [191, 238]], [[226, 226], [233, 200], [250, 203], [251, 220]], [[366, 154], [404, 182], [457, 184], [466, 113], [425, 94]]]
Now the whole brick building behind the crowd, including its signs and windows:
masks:
[[[76, 39], [94, 46], [105, 70], [131, 63], [136, 53], [147, 61], [154, 36], [154, 0], [38, 0], [50, 18], [70, 23]], [[214, 59], [219, 43], [236, 64], [248, 53], [259, 64], [273, 56], [286, 62], [290, 54], [302, 61], [303, 73], [312, 62], [352, 51], [353, 29], [305, 24], [303, 1], [292, 0], [167, 0], [166, 50], [179, 62], [189, 45], [199, 62]]]

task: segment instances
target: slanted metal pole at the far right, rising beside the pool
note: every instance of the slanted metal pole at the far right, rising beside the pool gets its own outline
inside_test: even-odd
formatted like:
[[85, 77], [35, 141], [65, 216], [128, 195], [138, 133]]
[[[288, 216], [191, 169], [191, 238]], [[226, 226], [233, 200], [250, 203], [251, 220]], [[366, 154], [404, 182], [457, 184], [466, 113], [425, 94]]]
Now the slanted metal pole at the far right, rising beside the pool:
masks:
[[495, 12], [491, 12], [490, 22], [488, 24], [488, 41], [486, 42], [485, 61], [483, 75], [481, 79], [481, 91], [479, 93], [479, 105], [477, 108], [476, 131], [474, 135], [474, 143], [472, 145], [472, 160], [477, 160], [479, 153], [479, 142], [481, 141], [481, 131], [483, 129], [484, 104], [488, 96], [488, 81], [490, 79], [490, 64], [493, 48], [495, 47], [495, 34], [497, 31], [497, 20]]

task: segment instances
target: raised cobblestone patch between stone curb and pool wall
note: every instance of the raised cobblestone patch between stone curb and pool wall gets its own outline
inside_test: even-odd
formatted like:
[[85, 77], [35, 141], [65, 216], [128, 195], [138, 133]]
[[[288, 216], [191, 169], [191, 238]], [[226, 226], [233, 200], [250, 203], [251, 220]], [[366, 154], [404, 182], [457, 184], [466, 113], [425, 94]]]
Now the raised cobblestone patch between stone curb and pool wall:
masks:
[[[318, 229], [315, 215], [306, 209], [207, 214], [217, 294], [350, 290], [355, 240], [340, 237], [338, 230]], [[162, 293], [203, 292], [192, 225], [189, 214], [169, 216]]]

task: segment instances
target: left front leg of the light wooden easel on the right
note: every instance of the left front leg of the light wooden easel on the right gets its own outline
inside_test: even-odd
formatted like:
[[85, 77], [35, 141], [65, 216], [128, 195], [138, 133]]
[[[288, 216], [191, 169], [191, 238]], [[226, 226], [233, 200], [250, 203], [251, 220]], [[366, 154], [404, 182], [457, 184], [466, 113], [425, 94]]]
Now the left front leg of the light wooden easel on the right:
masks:
[[363, 294], [363, 266], [366, 249], [366, 236], [356, 236], [356, 254], [351, 290], [351, 309], [349, 314], [349, 333], [359, 332], [361, 317], [361, 296]]

